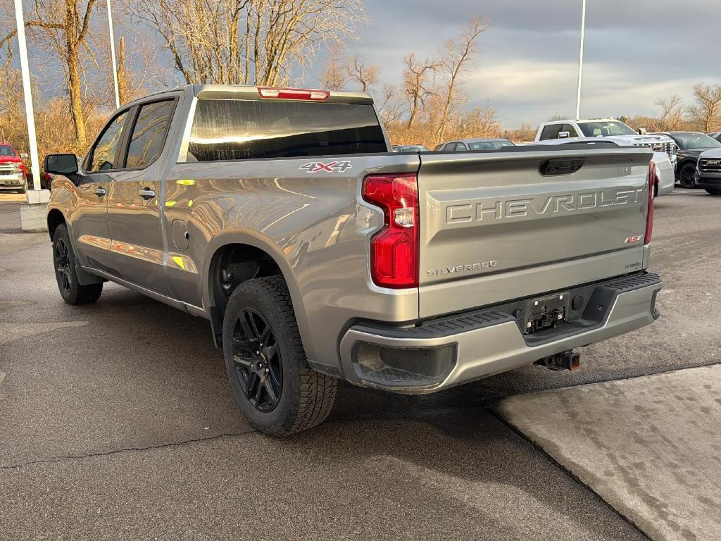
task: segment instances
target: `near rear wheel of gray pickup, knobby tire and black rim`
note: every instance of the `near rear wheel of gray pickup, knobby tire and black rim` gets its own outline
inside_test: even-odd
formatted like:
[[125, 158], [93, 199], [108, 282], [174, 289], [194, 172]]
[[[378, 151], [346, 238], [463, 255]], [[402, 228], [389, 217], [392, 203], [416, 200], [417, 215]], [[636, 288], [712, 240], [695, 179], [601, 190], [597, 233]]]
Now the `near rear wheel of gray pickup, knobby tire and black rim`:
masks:
[[223, 353], [236, 401], [255, 428], [287, 436], [327, 418], [337, 380], [309, 368], [286, 282], [236, 287], [223, 322]]

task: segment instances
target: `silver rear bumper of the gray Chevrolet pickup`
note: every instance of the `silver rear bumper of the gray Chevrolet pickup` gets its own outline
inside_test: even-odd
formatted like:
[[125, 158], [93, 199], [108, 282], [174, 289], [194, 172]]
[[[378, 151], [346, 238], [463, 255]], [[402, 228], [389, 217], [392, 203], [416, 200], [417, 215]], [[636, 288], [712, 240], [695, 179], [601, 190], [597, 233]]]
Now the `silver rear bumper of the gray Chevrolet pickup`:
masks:
[[586, 287], [593, 293], [578, 320], [532, 335], [521, 333], [516, 319], [501, 309], [415, 327], [355, 325], [340, 342], [345, 377], [393, 392], [436, 392], [622, 335], [658, 318], [658, 275], [642, 273]]

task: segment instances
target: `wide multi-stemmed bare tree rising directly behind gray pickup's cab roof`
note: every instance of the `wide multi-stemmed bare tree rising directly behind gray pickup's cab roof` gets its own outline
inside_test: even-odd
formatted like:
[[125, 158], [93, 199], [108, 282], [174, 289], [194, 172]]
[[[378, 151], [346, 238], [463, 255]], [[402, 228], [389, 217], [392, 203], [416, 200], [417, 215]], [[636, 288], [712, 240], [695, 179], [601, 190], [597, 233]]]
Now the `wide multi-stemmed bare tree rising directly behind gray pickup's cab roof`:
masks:
[[320, 45], [353, 37], [362, 0], [128, 0], [193, 83], [277, 86]]

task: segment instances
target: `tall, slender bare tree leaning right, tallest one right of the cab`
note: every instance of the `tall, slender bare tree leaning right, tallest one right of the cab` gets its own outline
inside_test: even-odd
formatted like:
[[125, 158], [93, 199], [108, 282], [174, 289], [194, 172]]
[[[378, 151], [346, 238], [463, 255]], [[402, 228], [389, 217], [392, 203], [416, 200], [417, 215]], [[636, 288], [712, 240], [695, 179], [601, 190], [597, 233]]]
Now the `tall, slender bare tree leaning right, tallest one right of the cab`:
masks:
[[443, 78], [443, 110], [438, 121], [436, 139], [441, 141], [446, 131], [446, 124], [451, 110], [458, 105], [459, 90], [463, 83], [462, 77], [469, 62], [472, 62], [477, 53], [476, 40], [481, 32], [488, 28], [488, 22], [481, 17], [473, 17], [468, 26], [461, 32], [460, 40], [448, 40], [446, 47], [441, 54], [440, 71]]

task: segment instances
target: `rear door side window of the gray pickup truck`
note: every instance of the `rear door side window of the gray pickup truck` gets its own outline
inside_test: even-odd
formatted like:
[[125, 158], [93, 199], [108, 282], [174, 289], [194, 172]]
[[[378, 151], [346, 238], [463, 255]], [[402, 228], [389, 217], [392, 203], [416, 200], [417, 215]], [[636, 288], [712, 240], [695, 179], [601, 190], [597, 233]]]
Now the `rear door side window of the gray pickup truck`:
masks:
[[127, 169], [143, 169], [153, 163], [163, 150], [168, 132], [173, 102], [155, 102], [141, 105], [138, 120], [128, 145]]

